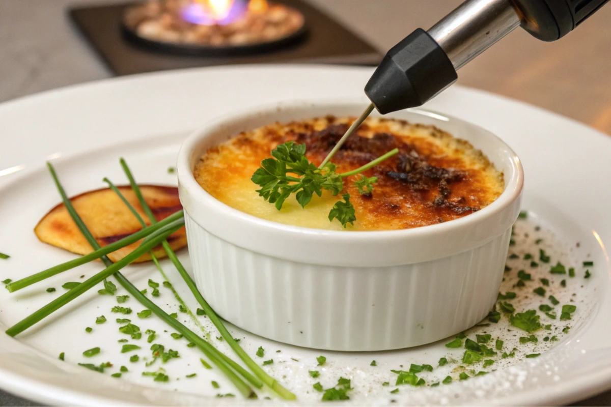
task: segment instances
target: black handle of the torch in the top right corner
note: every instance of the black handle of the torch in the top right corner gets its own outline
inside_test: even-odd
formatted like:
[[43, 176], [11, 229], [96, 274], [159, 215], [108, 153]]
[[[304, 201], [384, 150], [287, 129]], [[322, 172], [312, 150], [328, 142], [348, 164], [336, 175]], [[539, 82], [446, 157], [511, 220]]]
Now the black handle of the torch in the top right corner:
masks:
[[522, 28], [543, 41], [573, 31], [609, 0], [512, 0], [522, 13]]

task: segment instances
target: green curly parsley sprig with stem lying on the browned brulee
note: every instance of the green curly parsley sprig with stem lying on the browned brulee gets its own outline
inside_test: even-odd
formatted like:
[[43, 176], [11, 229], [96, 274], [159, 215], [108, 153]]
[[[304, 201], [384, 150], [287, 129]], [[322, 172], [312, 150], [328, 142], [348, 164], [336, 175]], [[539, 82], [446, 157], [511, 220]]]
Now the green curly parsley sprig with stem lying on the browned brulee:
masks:
[[[305, 157], [305, 144], [291, 141], [274, 148], [271, 151], [272, 157], [262, 160], [261, 167], [257, 168], [251, 180], [261, 187], [257, 190], [259, 196], [273, 203], [276, 209], [280, 210], [287, 198], [293, 194], [301, 207], [305, 207], [314, 194], [321, 196], [323, 190], [331, 192], [333, 196], [339, 195], [344, 188], [343, 178], [360, 174], [398, 152], [395, 148], [356, 170], [338, 174], [337, 167], [332, 162], [326, 162], [320, 168], [316, 167]], [[355, 185], [359, 193], [369, 195], [373, 192], [373, 184], [376, 181], [376, 177], [362, 176]], [[343, 201], [335, 203], [329, 212], [329, 220], [337, 218], [345, 228], [348, 223], [353, 224], [356, 216], [350, 195], [345, 193], [342, 198]]]

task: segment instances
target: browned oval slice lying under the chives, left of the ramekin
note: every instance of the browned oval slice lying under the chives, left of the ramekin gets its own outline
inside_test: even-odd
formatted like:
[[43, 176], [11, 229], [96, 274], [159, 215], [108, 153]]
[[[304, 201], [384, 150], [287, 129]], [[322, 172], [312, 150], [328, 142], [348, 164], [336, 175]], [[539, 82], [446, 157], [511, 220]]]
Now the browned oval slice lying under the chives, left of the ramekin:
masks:
[[[131, 190], [131, 187], [120, 186], [117, 188], [136, 208], [136, 211], [145, 220], [147, 225], [150, 225], [150, 221], [147, 215], [144, 214], [144, 211], [142, 211], [142, 207], [138, 203], [136, 194]], [[157, 220], [162, 220], [182, 209], [178, 200], [178, 188], [176, 187], [140, 185], [140, 189]], [[102, 247], [142, 229], [142, 225], [134, 214], [130, 212], [119, 196], [109, 188], [85, 192], [70, 198], [70, 201], [93, 234], [93, 237]], [[70, 214], [68, 214], [63, 203], [51, 209], [38, 222], [38, 225], [34, 228], [34, 233], [41, 242], [49, 243], [49, 245], [71, 251], [72, 253], [87, 254], [93, 251], [85, 237], [82, 236], [76, 223], [70, 217]], [[185, 228], [183, 227], [170, 235], [167, 238], [167, 242], [170, 243], [170, 247], [174, 250], [185, 247], [187, 243]], [[110, 253], [108, 257], [114, 262], [119, 261], [138, 247], [140, 243], [141, 241], [132, 243]], [[161, 245], [155, 247], [153, 253], [158, 258], [166, 256], [166, 252]], [[135, 262], [144, 262], [150, 259], [151, 256], [147, 253], [139, 257]]]

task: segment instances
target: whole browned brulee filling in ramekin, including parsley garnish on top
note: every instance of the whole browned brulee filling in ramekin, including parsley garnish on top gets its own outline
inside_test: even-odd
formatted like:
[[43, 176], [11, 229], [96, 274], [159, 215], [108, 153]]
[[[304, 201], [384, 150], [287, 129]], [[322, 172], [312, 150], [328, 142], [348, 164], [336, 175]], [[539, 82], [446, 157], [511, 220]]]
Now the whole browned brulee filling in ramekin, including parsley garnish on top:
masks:
[[368, 118], [319, 170], [353, 121], [327, 116], [242, 132], [208, 149], [194, 176], [214, 198], [247, 214], [349, 231], [447, 222], [503, 192], [502, 173], [468, 142], [387, 118]]

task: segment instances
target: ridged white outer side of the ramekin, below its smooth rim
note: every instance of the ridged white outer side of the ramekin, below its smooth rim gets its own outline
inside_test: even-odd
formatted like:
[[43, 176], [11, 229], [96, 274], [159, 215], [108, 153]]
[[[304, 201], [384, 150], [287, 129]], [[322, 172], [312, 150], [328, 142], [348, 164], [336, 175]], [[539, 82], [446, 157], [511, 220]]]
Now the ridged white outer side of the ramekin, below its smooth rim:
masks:
[[427, 344], [480, 322], [496, 300], [511, 234], [428, 262], [335, 267], [258, 254], [185, 219], [197, 287], [219, 315], [279, 342], [342, 351]]

